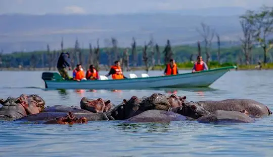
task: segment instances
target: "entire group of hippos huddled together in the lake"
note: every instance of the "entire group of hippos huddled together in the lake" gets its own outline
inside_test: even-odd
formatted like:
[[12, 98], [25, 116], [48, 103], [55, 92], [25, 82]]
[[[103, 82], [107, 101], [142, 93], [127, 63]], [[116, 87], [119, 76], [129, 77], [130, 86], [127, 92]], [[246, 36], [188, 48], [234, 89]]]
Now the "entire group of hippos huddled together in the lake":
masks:
[[125, 122], [170, 122], [196, 120], [198, 122], [254, 122], [254, 117], [272, 114], [270, 109], [251, 99], [221, 101], [187, 101], [186, 96], [159, 93], [149, 97], [132, 96], [114, 105], [110, 100], [83, 97], [78, 106], [55, 105], [45, 107], [38, 95], [22, 94], [18, 98], [0, 99], [0, 119], [35, 121], [44, 124], [74, 124], [99, 120]]

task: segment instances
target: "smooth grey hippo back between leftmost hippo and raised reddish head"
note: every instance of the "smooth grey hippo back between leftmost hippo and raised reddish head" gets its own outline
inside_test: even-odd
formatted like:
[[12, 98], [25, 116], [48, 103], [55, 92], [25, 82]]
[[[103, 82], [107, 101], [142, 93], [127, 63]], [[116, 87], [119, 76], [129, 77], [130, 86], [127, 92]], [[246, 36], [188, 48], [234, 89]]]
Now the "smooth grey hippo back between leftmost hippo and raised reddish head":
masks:
[[72, 112], [72, 113], [92, 113], [87, 110], [80, 109], [76, 106], [64, 106], [64, 105], [54, 105], [51, 107], [44, 108], [42, 112]]

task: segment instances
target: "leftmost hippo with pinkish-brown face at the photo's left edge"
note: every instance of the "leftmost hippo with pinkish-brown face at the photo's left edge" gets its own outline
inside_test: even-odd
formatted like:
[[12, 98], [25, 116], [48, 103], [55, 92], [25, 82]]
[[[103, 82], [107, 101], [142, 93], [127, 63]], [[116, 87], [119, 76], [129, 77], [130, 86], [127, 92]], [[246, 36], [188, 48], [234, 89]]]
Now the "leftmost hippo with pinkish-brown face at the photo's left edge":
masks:
[[18, 98], [8, 97], [1, 100], [0, 118], [21, 118], [26, 115], [39, 113], [44, 108], [44, 100], [37, 95], [22, 94]]

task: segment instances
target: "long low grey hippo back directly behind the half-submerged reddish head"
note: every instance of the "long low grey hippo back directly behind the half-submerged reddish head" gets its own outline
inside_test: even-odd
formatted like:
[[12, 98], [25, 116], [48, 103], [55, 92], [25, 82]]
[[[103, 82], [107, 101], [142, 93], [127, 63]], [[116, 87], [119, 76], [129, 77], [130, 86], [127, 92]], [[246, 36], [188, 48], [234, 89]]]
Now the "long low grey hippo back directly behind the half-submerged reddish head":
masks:
[[[41, 112], [37, 114], [28, 115], [15, 121], [47, 121], [55, 119], [58, 117], [64, 117], [67, 115], [67, 112]], [[88, 121], [100, 121], [100, 120], [109, 120], [109, 118], [103, 112], [97, 113], [73, 113], [77, 117], [85, 117]]]

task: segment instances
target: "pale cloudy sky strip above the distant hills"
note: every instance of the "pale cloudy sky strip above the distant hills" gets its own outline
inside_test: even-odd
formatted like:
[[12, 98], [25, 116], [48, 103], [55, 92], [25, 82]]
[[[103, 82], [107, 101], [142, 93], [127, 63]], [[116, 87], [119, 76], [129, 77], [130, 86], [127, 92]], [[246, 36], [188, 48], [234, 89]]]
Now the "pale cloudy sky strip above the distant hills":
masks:
[[131, 14], [217, 7], [257, 9], [273, 0], [0, 0], [0, 14]]

